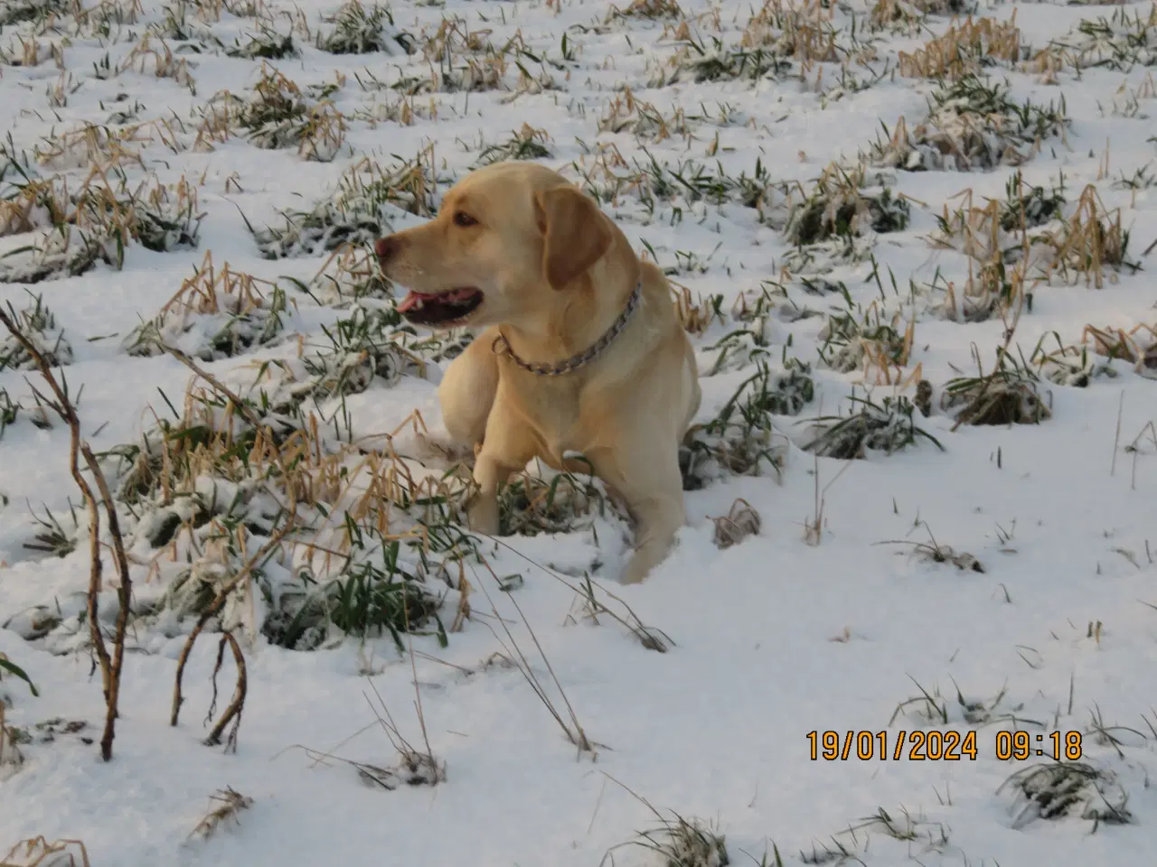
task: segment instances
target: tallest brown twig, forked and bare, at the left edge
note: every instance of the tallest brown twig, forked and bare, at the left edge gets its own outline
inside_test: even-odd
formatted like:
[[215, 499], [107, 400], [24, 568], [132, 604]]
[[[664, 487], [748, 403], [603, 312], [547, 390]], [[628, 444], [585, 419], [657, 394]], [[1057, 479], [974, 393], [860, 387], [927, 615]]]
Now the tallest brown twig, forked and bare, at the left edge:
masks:
[[[80, 418], [76, 415], [75, 407], [68, 399], [67, 383], [61, 385], [61, 383], [57, 381], [47, 360], [40, 350], [37, 349], [36, 344], [29, 340], [28, 336], [20, 331], [20, 328], [16, 327], [16, 323], [13, 321], [13, 319], [3, 310], [0, 310], [0, 323], [3, 323], [8, 332], [17, 341], [20, 341], [21, 346], [24, 347], [24, 350], [39, 369], [40, 376], [44, 377], [49, 387], [52, 390], [52, 393], [56, 395], [54, 402], [46, 402], [51, 403], [52, 408], [68, 425], [68, 469], [72, 473], [73, 481], [76, 482], [76, 487], [80, 488], [81, 494], [84, 497], [84, 502], [88, 505], [90, 557], [88, 581], [88, 623], [93, 647], [101, 666], [101, 679], [104, 687], [105, 720], [104, 733], [101, 736], [101, 757], [108, 762], [112, 758], [112, 741], [116, 736], [117, 707], [120, 697], [120, 672], [125, 658], [125, 632], [128, 625], [128, 609], [132, 602], [132, 579], [128, 576], [128, 558], [125, 556], [125, 543], [120, 535], [120, 523], [117, 520], [117, 507], [113, 503], [112, 495], [109, 491], [109, 484], [104, 479], [104, 473], [101, 472], [101, 466], [97, 464], [96, 455], [93, 454], [93, 450], [89, 447], [88, 443], [81, 439]], [[61, 379], [64, 379], [62, 373]], [[97, 488], [101, 491], [101, 497], [103, 498], [104, 511], [109, 517], [109, 534], [112, 538], [113, 562], [116, 563], [117, 571], [120, 575], [120, 587], [117, 591], [120, 610], [117, 613], [112, 655], [109, 654], [109, 649], [104, 643], [104, 636], [101, 633], [101, 623], [97, 616], [98, 595], [102, 590], [102, 571], [104, 568], [101, 561], [101, 512], [97, 506], [96, 496], [93, 494], [93, 487], [88, 483], [88, 481], [86, 481], [84, 476], [81, 475], [81, 455], [83, 455], [84, 462], [88, 466], [89, 472], [91, 472]]]

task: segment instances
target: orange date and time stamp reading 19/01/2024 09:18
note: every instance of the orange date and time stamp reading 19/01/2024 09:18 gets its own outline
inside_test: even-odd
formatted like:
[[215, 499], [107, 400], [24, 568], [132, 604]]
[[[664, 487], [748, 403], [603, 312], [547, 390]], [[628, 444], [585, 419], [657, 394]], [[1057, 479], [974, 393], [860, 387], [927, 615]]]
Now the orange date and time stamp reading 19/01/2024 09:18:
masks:
[[[1001, 761], [1024, 761], [1038, 756], [1076, 762], [1082, 755], [1081, 732], [997, 732], [994, 747], [993, 755]], [[842, 733], [813, 731], [808, 732], [808, 748], [812, 762], [847, 762], [853, 758], [959, 762], [964, 758], [975, 761], [978, 755], [975, 732], [941, 732], [935, 728]]]

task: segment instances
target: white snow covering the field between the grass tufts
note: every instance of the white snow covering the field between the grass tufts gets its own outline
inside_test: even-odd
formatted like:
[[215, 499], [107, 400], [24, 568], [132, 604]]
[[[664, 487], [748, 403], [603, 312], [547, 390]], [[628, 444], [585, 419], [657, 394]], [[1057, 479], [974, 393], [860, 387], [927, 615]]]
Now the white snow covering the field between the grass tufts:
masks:
[[[338, 3], [279, 0], [268, 8], [283, 13], [274, 18], [279, 32], [290, 32], [300, 10], [295, 27], [304, 22], [316, 34], [331, 27], [322, 16], [332, 15]], [[681, 8], [705, 45], [712, 37], [735, 44], [756, 12], [735, 0], [687, 0]], [[835, 12], [840, 45], [848, 44], [852, 13], [864, 25], [869, 8], [853, 0]], [[1015, 14], [1022, 40], [1039, 49], [1082, 20], [1121, 10], [1143, 20], [1150, 8], [1001, 3], [982, 6], [977, 14], [1002, 21]], [[398, 31], [425, 30], [428, 38], [444, 18], [459, 16], [463, 31], [488, 31], [485, 36], [495, 45], [521, 35], [536, 57], [558, 61], [544, 67], [555, 89], [518, 91], [518, 72], [511, 66], [503, 73], [506, 89], [412, 97], [408, 125], [370, 121], [375, 111], [385, 112], [400, 97], [370, 86], [366, 71], [385, 82], [426, 76], [432, 67], [420, 52], [331, 54], [295, 30], [300, 57], [264, 62], [303, 91], [340, 82], [330, 98], [348, 128], [331, 162], [308, 161], [296, 147], [259, 149], [243, 134], [213, 150], [192, 147], [198, 106], [226, 89], [246, 95], [261, 75], [260, 59], [229, 57], [220, 49], [180, 53], [182, 43], [170, 39], [175, 55], [187, 60], [196, 92], [155, 76], [152, 65], [141, 72], [139, 61], [119, 74], [100, 72], [105, 54], [117, 67], [149, 22], [160, 25], [165, 10], [159, 0], [143, 0], [138, 23], [113, 24], [103, 37], [74, 34], [62, 49], [64, 72], [52, 60], [10, 62], [13, 51], [21, 53], [19, 37], [30, 38], [36, 22], [3, 27], [0, 47], [9, 60], [0, 67], [0, 104], [9, 118], [3, 132], [12, 151], [31, 153], [38, 143], [43, 149], [45, 136], [86, 123], [103, 125], [112, 111], [139, 103], [137, 121], [167, 119], [185, 131], [177, 134], [184, 143], [175, 149], [160, 139], [138, 142], [142, 162], [126, 168], [133, 186], [146, 177], [145, 169], [164, 184], [184, 176], [196, 183], [204, 213], [196, 249], [152, 252], [132, 244], [120, 271], [98, 264], [79, 276], [35, 286], [0, 283], [3, 309], [24, 309], [32, 292], [54, 314], [73, 350], [72, 362], [58, 372], [72, 394], [83, 385], [79, 413], [93, 449], [140, 442], [155, 424], [154, 413], [171, 418], [160, 393], [180, 407], [190, 370], [170, 355], [131, 356], [121, 341], [142, 318], [157, 314], [206, 252], [218, 267], [228, 262], [260, 280], [280, 281], [293, 299], [283, 341], [198, 362], [233, 387], [253, 381], [260, 361], [297, 363], [297, 335], [304, 335], [304, 344], [317, 343], [323, 328], [349, 314], [338, 304], [310, 301], [286, 280], [308, 282], [327, 254], [265, 259], [246, 221], [255, 228], [277, 227], [280, 209], [309, 210], [364, 155], [390, 165], [395, 155], [413, 158], [432, 144], [436, 175], [452, 179], [467, 172], [485, 147], [507, 141], [529, 124], [548, 131], [552, 155], [543, 161], [575, 179], [576, 166], [602, 183], [609, 183], [600, 175], [604, 165], [625, 173], [612, 154], [628, 164], [654, 157], [675, 166], [694, 160], [712, 170], [717, 160], [731, 177], [750, 176], [758, 158], [773, 181], [798, 180], [806, 190], [833, 160], [867, 154], [880, 123], [891, 132], [905, 116], [913, 127], [927, 116], [927, 97], [935, 89], [929, 80], [889, 73], [835, 98], [825, 91], [837, 83], [839, 64], [811, 65], [801, 80], [795, 60], [788, 72], [757, 82], [685, 77], [659, 87], [657, 71], [681, 50], [675, 38], [679, 20], [636, 16], [595, 29], [609, 10], [606, 2], [399, 0], [391, 25]], [[220, 21], [208, 15], [206, 23], [194, 6], [186, 12], [192, 31], [212, 30], [226, 47], [238, 34], [256, 32], [252, 17], [222, 12]], [[71, 32], [72, 17], [65, 22], [61, 29]], [[922, 32], [875, 34], [872, 68], [878, 72], [885, 61], [894, 66], [899, 51], [912, 52], [949, 23], [948, 16], [929, 15]], [[563, 34], [573, 59], [562, 57]], [[61, 34], [49, 29], [38, 38], [59, 44]], [[1154, 44], [1152, 27], [1149, 38]], [[543, 72], [525, 57], [521, 62], [531, 75]], [[849, 68], [867, 75], [861, 66]], [[1068, 67], [1055, 83], [1009, 64], [982, 72], [1007, 77], [1016, 102], [1047, 105], [1063, 97], [1071, 125], [1063, 135], [1042, 141], [1039, 153], [1027, 154], [1024, 181], [1048, 190], [1063, 172], [1066, 217], [1082, 188], [1096, 185], [1107, 208], [1121, 208], [1122, 225], [1130, 232], [1129, 259], [1143, 266], [1137, 273], [1106, 268], [1100, 289], [1083, 277], [1038, 286], [1031, 310], [1016, 324], [1014, 353], [1019, 347], [1027, 358], [1053, 333], [1066, 344], [1079, 344], [1086, 325], [1126, 331], [1157, 326], [1154, 257], [1144, 255], [1157, 238], [1157, 194], [1144, 185], [1130, 191], [1114, 184], [1144, 166], [1151, 172], [1157, 157], [1150, 69], [1088, 68], [1076, 75]], [[61, 75], [72, 76], [66, 104], [50, 105], [45, 89]], [[665, 117], [680, 108], [688, 118], [717, 116], [725, 104], [739, 120], [688, 120], [690, 139], [600, 132], [609, 102], [622, 96], [620, 84]], [[1136, 112], [1114, 112], [1114, 99], [1123, 106], [1127, 92], [1138, 94]], [[614, 150], [597, 151], [597, 144]], [[38, 170], [43, 177], [65, 171], [76, 185], [89, 162], [86, 156]], [[927, 287], [937, 272], [958, 288], [967, 280], [967, 261], [959, 252], [929, 243], [944, 206], [959, 207], [952, 197], [968, 187], [978, 206], [983, 197], [1003, 198], [1011, 176], [1009, 166], [891, 171], [886, 185], [908, 197], [911, 222], [900, 231], [865, 236], [883, 288], [870, 276], [867, 257], [838, 262], [823, 276], [846, 283], [861, 307], [880, 298], [892, 305], [889, 310], [905, 311], [906, 323], [909, 281]], [[769, 216], [761, 222], [756, 209], [734, 200], [677, 203], [681, 220], [672, 216], [669, 203], [659, 203], [651, 218], [638, 194], [624, 187], [604, 208], [640, 250], [649, 245], [664, 267], [676, 267], [680, 259], [686, 265], [684, 254], [706, 262], [683, 268], [673, 280], [688, 287], [693, 298], [722, 295], [724, 313], [740, 292], [779, 280], [801, 307], [846, 310], [839, 294], [810, 295], [795, 277], [783, 277], [780, 267], [790, 245], [782, 221]], [[391, 218], [395, 228], [418, 221], [396, 210]], [[8, 252], [34, 237], [0, 237], [0, 247]], [[934, 304], [944, 283], [936, 286], [921, 290], [902, 376], [920, 365], [923, 379], [936, 387], [931, 416], [918, 414], [915, 421], [943, 451], [922, 438], [892, 454], [871, 452], [852, 461], [802, 451], [811, 438], [806, 420], [846, 414], [853, 386], [857, 397], [864, 393], [865, 373], [862, 365], [840, 373], [819, 363], [824, 317], [793, 321], [773, 316], [769, 361], [779, 364], [790, 339], [788, 355], [812, 365], [816, 388], [797, 418], [776, 416], [778, 429], [791, 442], [779, 477], [732, 475], [688, 491], [688, 526], [671, 556], [641, 585], [616, 583], [627, 533], [611, 517], [570, 533], [485, 542], [481, 550], [494, 573], [518, 573], [522, 581], [503, 592], [494, 575], [467, 558], [473, 616], [449, 633], [445, 646], [433, 636], [404, 637], [413, 652], [399, 653], [385, 635], [293, 651], [255, 633], [241, 612], [237, 637], [249, 691], [235, 753], [201, 743], [218, 632], [207, 631], [196, 645], [184, 673], [180, 724], [170, 727], [176, 660], [192, 621], [142, 621], [139, 631], [131, 630], [109, 763], [91, 743], [100, 739], [104, 704], [87, 650], [68, 652], [60, 636], [22, 637], [35, 606], [59, 605], [65, 615], [82, 610], [87, 521], [68, 473], [67, 427], [54, 417], [50, 429], [31, 421], [32, 388], [45, 391], [39, 375], [0, 369], [0, 390], [23, 407], [15, 422], [0, 428], [0, 624], [8, 624], [0, 629], [0, 653], [25, 670], [39, 691], [34, 697], [9, 674], [0, 680], [3, 724], [32, 740], [19, 747], [22, 764], [0, 763], [0, 854], [43, 835], [83, 840], [93, 865], [120, 867], [597, 865], [609, 849], [656, 825], [649, 803], [666, 817], [672, 810], [698, 817], [725, 835], [732, 864], [747, 862], [749, 854], [760, 864], [765, 852], [767, 864], [775, 862], [778, 852], [784, 865], [839, 864], [841, 858], [870, 867], [1150, 862], [1157, 822], [1157, 794], [1149, 785], [1157, 759], [1157, 437], [1147, 436], [1145, 425], [1157, 423], [1154, 370], [1115, 361], [1115, 377], [1095, 377], [1086, 387], [1044, 380], [1039, 387], [1052, 415], [1040, 424], [955, 427], [941, 407], [941, 388], [978, 370], [973, 347], [985, 371], [990, 370], [1007, 325], [1000, 318], [944, 318]], [[193, 351], [216, 327], [218, 319], [200, 318], [179, 336], [187, 342], [177, 344]], [[737, 327], [732, 320], [716, 320], [694, 336], [701, 372], [716, 356], [710, 347]], [[417, 409], [430, 436], [440, 435], [435, 388], [444, 364], [432, 364], [425, 379], [408, 369], [393, 380], [378, 377], [369, 390], [349, 395], [345, 410], [354, 437], [383, 447], [383, 435], [401, 428], [391, 447], [418, 454], [421, 444], [403, 425]], [[712, 418], [754, 370], [747, 365], [702, 377], [699, 421]], [[871, 376], [867, 385], [877, 402], [896, 392], [874, 385]], [[912, 397], [913, 388], [902, 393]], [[336, 407], [331, 399], [323, 408], [332, 414]], [[721, 550], [713, 542], [712, 519], [725, 516], [737, 498], [758, 512], [761, 528]], [[34, 512], [43, 518], [51, 510], [72, 532], [69, 503], [80, 525], [73, 532], [75, 550], [56, 557], [24, 547], [43, 529]], [[817, 540], [808, 528], [819, 511]], [[102, 526], [106, 531], [106, 523]], [[131, 520], [128, 526], [135, 527]], [[912, 543], [971, 554], [983, 571], [930, 562]], [[156, 575], [148, 564], [167, 550], [150, 550], [140, 540], [133, 548], [139, 600], [160, 599], [164, 581], [172, 579], [177, 564], [165, 561]], [[599, 598], [617, 613], [628, 606], [647, 627], [669, 636], [673, 645], [668, 652], [646, 649], [613, 617], [584, 616], [576, 592], [584, 572], [592, 573]], [[111, 629], [111, 558], [105, 580], [112, 584], [102, 595], [102, 618]], [[442, 618], [448, 625], [454, 618], [450, 599]], [[86, 635], [87, 629], [79, 638]], [[515, 643], [568, 725], [567, 706], [573, 707], [594, 756], [566, 739], [517, 667], [495, 662], [495, 653], [517, 657]], [[233, 691], [230, 660], [218, 681], [220, 712]], [[444, 781], [386, 791], [362, 781], [347, 763], [315, 762], [307, 753], [395, 765], [397, 751], [371, 706], [381, 712], [375, 690], [406, 740], [423, 749], [417, 691], [430, 750], [445, 763]], [[926, 718], [922, 703], [904, 704], [924, 690], [942, 703], [946, 722]], [[966, 718], [958, 691], [987, 711], [967, 711]], [[36, 726], [54, 718], [87, 726], [44, 742]], [[1009, 787], [997, 790], [1014, 772], [1047, 759], [997, 758], [996, 733], [1017, 727], [1033, 738], [1082, 732], [1082, 761], [1105, 779], [1115, 778], [1128, 793], [1133, 821], [1095, 824], [1077, 810], [1018, 822], [1023, 802]], [[813, 761], [809, 755], [812, 731], [834, 731], [841, 741], [849, 731], [886, 732], [891, 746], [901, 732], [931, 729], [977, 732], [975, 759], [861, 761], [853, 755]], [[209, 795], [226, 786], [251, 798], [252, 806], [207, 839], [190, 837], [214, 806]], [[880, 822], [867, 823], [880, 809], [905, 828], [905, 816], [911, 816], [912, 839], [890, 836]], [[614, 850], [612, 858], [619, 865], [661, 862], [640, 847]]]

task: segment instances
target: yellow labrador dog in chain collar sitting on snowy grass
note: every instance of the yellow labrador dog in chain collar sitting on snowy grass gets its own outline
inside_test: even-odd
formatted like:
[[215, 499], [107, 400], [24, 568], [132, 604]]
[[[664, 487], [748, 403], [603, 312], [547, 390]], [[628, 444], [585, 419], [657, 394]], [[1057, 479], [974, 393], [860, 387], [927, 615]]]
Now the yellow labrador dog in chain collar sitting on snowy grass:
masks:
[[478, 452], [471, 527], [499, 532], [498, 488], [532, 458], [590, 467], [634, 519], [622, 580], [641, 581], [686, 520], [678, 446], [701, 397], [662, 272], [591, 198], [526, 162], [478, 169], [436, 220], [376, 252], [408, 290], [408, 321], [484, 329], [439, 386], [447, 430]]

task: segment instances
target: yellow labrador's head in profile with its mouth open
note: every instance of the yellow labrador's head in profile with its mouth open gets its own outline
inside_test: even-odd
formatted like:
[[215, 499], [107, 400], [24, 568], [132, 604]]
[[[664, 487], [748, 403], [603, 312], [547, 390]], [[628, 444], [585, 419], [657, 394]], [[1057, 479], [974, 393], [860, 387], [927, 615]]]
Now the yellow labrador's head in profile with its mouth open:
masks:
[[611, 221], [558, 172], [504, 162], [467, 175], [435, 220], [381, 238], [376, 253], [417, 325], [533, 327], [613, 242]]

